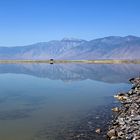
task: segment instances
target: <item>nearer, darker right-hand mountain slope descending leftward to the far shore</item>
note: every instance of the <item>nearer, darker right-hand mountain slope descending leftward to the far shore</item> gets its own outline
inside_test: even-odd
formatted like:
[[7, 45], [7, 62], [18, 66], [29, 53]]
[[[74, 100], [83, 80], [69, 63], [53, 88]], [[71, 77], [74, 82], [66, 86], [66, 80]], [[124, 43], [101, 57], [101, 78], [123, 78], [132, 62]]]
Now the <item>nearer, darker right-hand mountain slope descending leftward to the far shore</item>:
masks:
[[[140, 59], [140, 38], [106, 37], [92, 40], [66, 52], [62, 58], [76, 59]], [[73, 54], [73, 56], [72, 56]]]

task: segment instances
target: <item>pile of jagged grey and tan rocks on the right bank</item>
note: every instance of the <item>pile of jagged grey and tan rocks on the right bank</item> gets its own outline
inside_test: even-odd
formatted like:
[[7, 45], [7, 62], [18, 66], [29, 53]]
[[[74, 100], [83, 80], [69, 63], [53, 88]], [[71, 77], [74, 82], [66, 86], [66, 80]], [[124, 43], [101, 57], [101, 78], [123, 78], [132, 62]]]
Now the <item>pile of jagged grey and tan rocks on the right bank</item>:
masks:
[[117, 115], [107, 132], [109, 140], [140, 140], [140, 78], [130, 82], [133, 87], [129, 92], [114, 96], [121, 106], [112, 109]]

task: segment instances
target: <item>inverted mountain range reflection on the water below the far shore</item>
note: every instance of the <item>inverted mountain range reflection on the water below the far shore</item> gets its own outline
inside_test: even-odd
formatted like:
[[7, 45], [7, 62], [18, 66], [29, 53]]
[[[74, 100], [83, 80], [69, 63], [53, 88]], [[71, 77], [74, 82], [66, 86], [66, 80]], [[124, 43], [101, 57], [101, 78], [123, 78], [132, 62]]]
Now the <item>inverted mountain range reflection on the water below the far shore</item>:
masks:
[[136, 64], [0, 64], [0, 73], [27, 74], [52, 80], [126, 83], [139, 75]]

